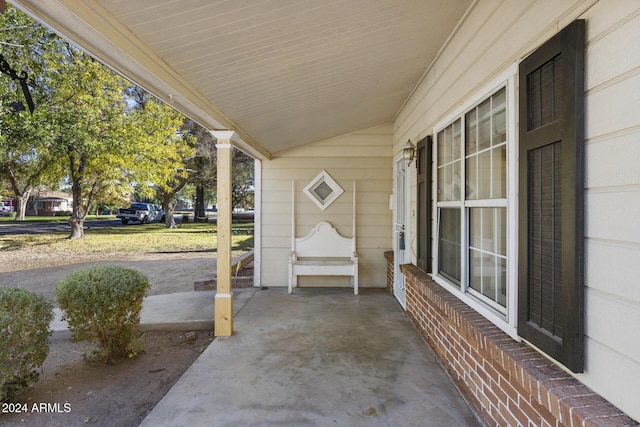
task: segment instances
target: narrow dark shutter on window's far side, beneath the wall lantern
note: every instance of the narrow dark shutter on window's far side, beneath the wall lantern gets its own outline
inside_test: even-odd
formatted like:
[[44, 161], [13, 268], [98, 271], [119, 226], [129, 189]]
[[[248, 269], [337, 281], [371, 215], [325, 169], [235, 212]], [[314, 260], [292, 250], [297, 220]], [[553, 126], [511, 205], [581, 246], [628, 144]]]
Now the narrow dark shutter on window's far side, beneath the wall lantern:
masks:
[[431, 272], [431, 136], [418, 142], [418, 268]]

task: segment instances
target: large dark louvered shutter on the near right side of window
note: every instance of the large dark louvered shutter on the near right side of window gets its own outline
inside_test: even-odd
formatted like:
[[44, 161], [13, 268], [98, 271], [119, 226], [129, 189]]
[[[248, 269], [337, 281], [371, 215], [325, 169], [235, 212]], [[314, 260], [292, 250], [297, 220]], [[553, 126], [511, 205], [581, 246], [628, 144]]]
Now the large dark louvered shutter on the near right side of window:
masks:
[[584, 365], [584, 20], [521, 64], [518, 334]]

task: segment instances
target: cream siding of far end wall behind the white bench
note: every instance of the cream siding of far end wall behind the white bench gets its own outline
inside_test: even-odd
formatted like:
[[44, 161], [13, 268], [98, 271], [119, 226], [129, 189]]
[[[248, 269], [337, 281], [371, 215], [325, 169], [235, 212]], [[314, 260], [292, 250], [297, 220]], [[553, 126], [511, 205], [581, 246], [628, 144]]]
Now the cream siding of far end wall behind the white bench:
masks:
[[[276, 153], [262, 163], [262, 285], [287, 285], [291, 251], [291, 183], [295, 183], [296, 237], [319, 221], [329, 221], [352, 236], [353, 182], [356, 181], [356, 238], [359, 286], [385, 287], [390, 248], [393, 186], [390, 124]], [[304, 187], [326, 170], [344, 193], [326, 210], [318, 208]], [[300, 286], [348, 286], [347, 277], [300, 277]]]

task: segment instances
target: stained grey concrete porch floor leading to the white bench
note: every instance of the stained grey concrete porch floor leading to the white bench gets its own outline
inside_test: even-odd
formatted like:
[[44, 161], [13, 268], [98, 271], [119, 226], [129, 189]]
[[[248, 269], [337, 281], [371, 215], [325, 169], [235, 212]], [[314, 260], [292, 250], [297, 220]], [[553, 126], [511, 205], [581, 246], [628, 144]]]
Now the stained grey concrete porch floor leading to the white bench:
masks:
[[257, 290], [142, 426], [476, 426], [383, 290]]

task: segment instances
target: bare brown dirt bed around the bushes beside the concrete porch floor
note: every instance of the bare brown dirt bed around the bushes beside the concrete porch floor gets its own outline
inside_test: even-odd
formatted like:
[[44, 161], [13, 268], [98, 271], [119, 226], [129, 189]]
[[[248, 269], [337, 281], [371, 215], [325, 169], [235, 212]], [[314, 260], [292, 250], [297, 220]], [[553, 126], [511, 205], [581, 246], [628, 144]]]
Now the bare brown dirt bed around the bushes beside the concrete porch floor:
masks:
[[0, 426], [131, 427], [142, 422], [209, 345], [212, 334], [146, 332], [145, 351], [112, 365], [87, 362], [84, 344], [51, 343], [39, 381], [18, 401], [2, 407]]

